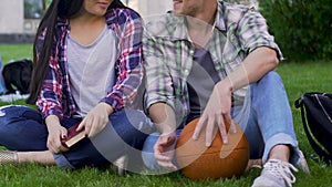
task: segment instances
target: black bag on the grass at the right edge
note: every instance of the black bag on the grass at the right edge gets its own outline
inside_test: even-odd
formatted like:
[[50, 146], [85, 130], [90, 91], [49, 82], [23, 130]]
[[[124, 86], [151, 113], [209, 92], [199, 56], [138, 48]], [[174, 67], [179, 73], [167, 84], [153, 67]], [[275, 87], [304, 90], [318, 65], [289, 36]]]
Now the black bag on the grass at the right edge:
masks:
[[310, 92], [295, 101], [310, 145], [326, 164], [332, 162], [332, 94]]

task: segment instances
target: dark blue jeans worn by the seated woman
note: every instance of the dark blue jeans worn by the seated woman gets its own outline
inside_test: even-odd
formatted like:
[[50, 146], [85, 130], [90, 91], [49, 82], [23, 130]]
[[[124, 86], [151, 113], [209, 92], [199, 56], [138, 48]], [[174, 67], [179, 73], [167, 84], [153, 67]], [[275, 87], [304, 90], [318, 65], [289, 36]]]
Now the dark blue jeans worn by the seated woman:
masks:
[[[63, 118], [69, 128], [79, 118]], [[54, 154], [63, 168], [81, 168], [108, 164], [125, 154], [141, 157], [144, 141], [152, 132], [144, 113], [122, 110], [110, 115], [110, 123], [93, 138], [85, 138], [62, 154]], [[10, 105], [0, 108], [0, 145], [11, 150], [48, 150], [48, 128], [40, 113], [27, 106]], [[136, 153], [135, 153], [136, 152]]]

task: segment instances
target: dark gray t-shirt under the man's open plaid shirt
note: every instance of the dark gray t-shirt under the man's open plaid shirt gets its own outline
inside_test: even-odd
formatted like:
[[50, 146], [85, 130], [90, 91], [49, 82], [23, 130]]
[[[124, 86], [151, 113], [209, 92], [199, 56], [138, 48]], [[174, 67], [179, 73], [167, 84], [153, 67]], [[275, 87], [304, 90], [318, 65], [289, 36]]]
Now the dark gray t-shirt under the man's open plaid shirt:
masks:
[[191, 72], [187, 80], [190, 104], [187, 123], [201, 115], [215, 84], [219, 81], [211, 54], [206, 49], [195, 50]]

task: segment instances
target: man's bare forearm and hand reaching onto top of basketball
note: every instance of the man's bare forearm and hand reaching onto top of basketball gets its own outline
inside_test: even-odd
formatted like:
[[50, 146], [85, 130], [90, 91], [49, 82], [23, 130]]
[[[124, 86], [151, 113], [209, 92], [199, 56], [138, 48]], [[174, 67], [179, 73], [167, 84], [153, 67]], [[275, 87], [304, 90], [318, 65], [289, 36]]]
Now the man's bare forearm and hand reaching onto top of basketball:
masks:
[[206, 146], [210, 146], [214, 127], [217, 125], [224, 143], [227, 144], [228, 136], [224, 120], [232, 124], [230, 115], [231, 93], [250, 83], [257, 82], [269, 71], [276, 69], [278, 63], [277, 53], [270, 48], [257, 48], [249, 53], [242, 64], [215, 85], [207, 107], [195, 128], [193, 138], [197, 139], [200, 131], [206, 125]]

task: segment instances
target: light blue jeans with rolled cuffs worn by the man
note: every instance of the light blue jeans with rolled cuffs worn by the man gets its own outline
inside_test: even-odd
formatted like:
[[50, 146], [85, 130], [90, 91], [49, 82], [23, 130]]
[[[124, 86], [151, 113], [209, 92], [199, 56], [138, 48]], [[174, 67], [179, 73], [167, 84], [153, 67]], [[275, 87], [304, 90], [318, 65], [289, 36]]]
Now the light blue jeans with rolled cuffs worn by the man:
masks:
[[[242, 107], [232, 108], [234, 120], [241, 126], [250, 144], [250, 158], [266, 163], [270, 150], [279, 144], [292, 147], [290, 163], [303, 157], [298, 147], [292, 113], [281, 77], [271, 71], [250, 84]], [[177, 131], [179, 135], [180, 131]], [[143, 147], [143, 162], [152, 170], [160, 170], [153, 154], [158, 133], [149, 135]], [[174, 160], [176, 163], [176, 160]]]

